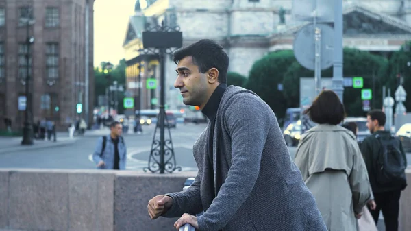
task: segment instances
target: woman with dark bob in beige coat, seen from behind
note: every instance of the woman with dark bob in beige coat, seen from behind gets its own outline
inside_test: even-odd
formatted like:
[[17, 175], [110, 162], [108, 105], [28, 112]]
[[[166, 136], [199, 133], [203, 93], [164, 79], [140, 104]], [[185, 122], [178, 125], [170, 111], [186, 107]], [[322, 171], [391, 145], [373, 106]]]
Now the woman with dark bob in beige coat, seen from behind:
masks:
[[327, 229], [358, 230], [356, 219], [371, 197], [371, 186], [355, 136], [338, 125], [344, 106], [334, 92], [323, 90], [304, 113], [318, 125], [301, 136], [295, 164]]

